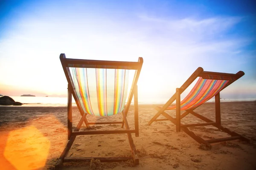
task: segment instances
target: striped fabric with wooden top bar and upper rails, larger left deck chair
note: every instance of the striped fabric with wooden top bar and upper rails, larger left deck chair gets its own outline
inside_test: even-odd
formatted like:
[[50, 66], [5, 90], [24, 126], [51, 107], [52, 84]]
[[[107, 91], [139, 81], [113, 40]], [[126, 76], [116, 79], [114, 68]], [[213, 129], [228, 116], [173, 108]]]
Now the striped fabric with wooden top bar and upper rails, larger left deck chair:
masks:
[[129, 70], [135, 70], [128, 105], [137, 85], [143, 59], [138, 62], [117, 62], [67, 59], [60, 56], [72, 94], [80, 111], [94, 116], [111, 116], [123, 111], [128, 91]]

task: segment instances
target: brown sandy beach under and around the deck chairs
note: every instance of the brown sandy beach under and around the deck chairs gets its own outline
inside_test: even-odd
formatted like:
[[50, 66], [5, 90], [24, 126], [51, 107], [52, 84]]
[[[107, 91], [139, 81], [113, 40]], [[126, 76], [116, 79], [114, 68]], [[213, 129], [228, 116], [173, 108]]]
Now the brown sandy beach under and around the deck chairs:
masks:
[[[215, 120], [214, 103], [205, 103], [195, 112]], [[134, 109], [128, 113], [130, 128], [134, 127]], [[140, 136], [133, 140], [140, 164], [131, 162], [97, 164], [98, 169], [113, 170], [256, 170], [256, 102], [222, 102], [221, 123], [251, 139], [212, 144], [211, 150], [200, 149], [200, 144], [184, 132], [177, 133], [169, 121], [148, 121], [157, 113], [152, 105], [139, 105]], [[172, 115], [175, 111], [171, 111]], [[81, 116], [73, 107], [73, 128]], [[120, 121], [122, 114], [109, 117], [87, 116], [89, 122]], [[192, 115], [182, 123], [200, 122]], [[122, 129], [120, 125], [94, 125], [93, 130]], [[190, 128], [204, 139], [228, 136], [213, 126]], [[81, 130], [86, 130], [85, 125]], [[67, 144], [66, 107], [0, 107], [0, 169], [54, 169]], [[68, 156], [128, 156], [131, 154], [127, 134], [77, 136]], [[63, 170], [89, 170], [90, 163], [64, 163]], [[94, 168], [95, 169], [95, 168]], [[97, 168], [96, 168], [97, 169]]]

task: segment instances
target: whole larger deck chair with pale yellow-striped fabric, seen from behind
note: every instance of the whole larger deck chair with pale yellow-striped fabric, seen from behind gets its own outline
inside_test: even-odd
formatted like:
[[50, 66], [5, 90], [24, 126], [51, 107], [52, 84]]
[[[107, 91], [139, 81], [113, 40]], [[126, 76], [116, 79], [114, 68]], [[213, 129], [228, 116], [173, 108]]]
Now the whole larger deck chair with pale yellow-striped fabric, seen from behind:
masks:
[[[139, 136], [138, 121], [138, 94], [137, 81], [140, 76], [140, 70], [143, 65], [143, 58], [139, 57], [138, 62], [118, 62], [101, 61], [87, 59], [69, 59], [65, 54], [60, 55], [61, 65], [68, 82], [68, 102], [67, 102], [67, 146], [64, 148], [56, 166], [63, 164], [64, 161], [90, 161], [89, 158], [67, 157], [76, 136], [78, 135], [98, 135], [127, 133], [128, 141], [131, 146], [131, 157], [94, 157], [100, 161], [126, 161], [132, 159], [134, 164], [139, 164], [137, 151], [131, 136]], [[128, 95], [128, 101], [125, 105], [128, 91], [128, 73], [129, 70], [135, 70], [134, 79], [131, 85], [131, 91]], [[81, 114], [81, 119], [72, 130], [72, 96]], [[132, 98], [134, 97], [134, 129], [130, 129], [126, 119]], [[122, 113], [120, 122], [88, 122], [86, 116], [112, 116]], [[81, 125], [85, 123], [87, 128], [90, 125], [99, 124], [121, 124], [125, 125], [125, 130], [84, 130], [79, 131]]]

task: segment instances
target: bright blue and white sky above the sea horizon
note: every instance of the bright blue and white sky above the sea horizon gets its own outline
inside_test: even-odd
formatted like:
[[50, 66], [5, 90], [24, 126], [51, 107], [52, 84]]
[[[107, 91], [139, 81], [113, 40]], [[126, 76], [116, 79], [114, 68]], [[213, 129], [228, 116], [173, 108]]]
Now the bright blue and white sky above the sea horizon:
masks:
[[143, 57], [139, 101], [168, 100], [198, 67], [244, 71], [221, 97], [256, 99], [256, 1], [0, 0], [0, 94], [67, 96], [61, 53]]

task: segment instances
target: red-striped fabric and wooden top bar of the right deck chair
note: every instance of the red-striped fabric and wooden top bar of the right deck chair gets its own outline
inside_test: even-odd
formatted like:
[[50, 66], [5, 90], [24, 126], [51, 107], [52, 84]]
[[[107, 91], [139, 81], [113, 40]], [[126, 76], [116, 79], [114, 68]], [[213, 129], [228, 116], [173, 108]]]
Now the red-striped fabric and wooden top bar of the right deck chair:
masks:
[[[198, 69], [201, 69], [201, 72], [196, 76], [199, 77], [198, 81], [189, 94], [180, 102], [180, 110], [182, 111], [202, 105], [244, 75], [243, 71], [239, 71], [237, 74], [228, 74], [203, 71], [202, 68]], [[176, 106], [171, 106], [168, 109], [175, 108]]]

